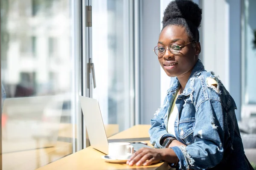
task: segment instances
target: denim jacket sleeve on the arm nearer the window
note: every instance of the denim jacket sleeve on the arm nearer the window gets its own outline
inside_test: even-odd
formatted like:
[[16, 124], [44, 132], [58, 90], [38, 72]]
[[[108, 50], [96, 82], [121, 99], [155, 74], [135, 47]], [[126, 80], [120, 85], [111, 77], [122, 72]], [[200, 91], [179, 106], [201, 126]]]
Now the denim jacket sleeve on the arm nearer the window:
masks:
[[167, 137], [173, 137], [175, 138], [174, 135], [170, 134], [166, 130], [166, 126], [164, 123], [164, 119], [166, 115], [166, 110], [168, 111], [168, 98], [166, 96], [164, 100], [164, 104], [156, 111], [154, 114], [154, 118], [151, 119], [151, 128], [149, 129], [149, 136], [150, 136], [150, 143], [155, 147], [155, 148], [163, 148], [160, 145], [160, 140], [163, 138]]

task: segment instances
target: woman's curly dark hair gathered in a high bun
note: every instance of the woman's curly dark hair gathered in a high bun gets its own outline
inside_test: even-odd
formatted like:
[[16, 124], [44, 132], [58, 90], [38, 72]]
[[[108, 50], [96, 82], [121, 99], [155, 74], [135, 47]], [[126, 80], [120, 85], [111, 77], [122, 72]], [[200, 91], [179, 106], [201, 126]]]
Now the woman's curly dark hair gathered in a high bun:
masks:
[[[163, 13], [163, 28], [169, 25], [182, 26], [192, 41], [199, 42], [202, 9], [192, 0], [174, 0]], [[163, 30], [163, 29], [162, 29]]]

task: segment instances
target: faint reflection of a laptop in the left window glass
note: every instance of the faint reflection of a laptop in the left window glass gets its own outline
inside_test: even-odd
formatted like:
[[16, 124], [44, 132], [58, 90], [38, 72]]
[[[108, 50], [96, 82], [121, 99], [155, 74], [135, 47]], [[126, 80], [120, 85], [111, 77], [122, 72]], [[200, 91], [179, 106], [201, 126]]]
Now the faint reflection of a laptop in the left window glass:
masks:
[[8, 98], [2, 127], [3, 153], [54, 147], [62, 114], [61, 96]]

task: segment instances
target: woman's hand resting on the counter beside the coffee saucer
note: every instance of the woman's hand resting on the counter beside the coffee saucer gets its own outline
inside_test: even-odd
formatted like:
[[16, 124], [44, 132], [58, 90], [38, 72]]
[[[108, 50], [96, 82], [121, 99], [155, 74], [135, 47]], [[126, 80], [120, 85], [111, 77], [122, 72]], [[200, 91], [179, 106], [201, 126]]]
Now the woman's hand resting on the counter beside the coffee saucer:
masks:
[[143, 164], [143, 166], [146, 166], [157, 163], [162, 160], [162, 153], [163, 149], [143, 147], [140, 150], [137, 150], [126, 164], [130, 166], [133, 166], [134, 164], [140, 166]]

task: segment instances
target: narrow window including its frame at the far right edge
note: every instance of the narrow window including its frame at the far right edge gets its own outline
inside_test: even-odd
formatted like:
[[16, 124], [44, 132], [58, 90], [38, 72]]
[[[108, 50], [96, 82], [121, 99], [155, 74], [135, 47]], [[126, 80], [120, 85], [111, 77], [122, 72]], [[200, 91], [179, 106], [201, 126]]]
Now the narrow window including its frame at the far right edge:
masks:
[[242, 32], [242, 117], [256, 116], [256, 1], [244, 0]]

